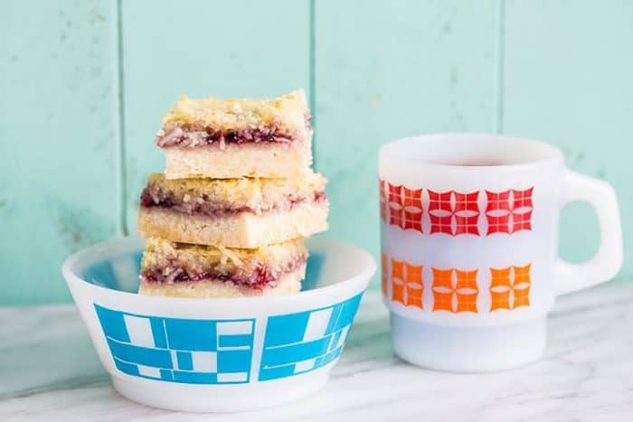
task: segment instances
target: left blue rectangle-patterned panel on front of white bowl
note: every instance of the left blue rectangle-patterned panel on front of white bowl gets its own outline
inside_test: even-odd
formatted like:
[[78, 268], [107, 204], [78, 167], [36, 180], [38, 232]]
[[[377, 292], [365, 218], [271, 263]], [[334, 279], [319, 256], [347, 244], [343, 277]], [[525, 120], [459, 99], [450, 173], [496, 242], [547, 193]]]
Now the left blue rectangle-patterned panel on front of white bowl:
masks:
[[95, 305], [115, 365], [128, 375], [188, 384], [250, 380], [255, 320], [189, 320]]

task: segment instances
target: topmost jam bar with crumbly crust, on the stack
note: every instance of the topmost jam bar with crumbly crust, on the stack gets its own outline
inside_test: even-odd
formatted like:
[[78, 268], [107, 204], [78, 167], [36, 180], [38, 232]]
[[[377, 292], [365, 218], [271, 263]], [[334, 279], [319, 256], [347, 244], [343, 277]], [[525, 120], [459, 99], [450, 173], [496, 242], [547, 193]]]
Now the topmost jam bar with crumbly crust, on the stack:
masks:
[[275, 99], [180, 98], [156, 145], [167, 179], [293, 177], [312, 163], [303, 90]]

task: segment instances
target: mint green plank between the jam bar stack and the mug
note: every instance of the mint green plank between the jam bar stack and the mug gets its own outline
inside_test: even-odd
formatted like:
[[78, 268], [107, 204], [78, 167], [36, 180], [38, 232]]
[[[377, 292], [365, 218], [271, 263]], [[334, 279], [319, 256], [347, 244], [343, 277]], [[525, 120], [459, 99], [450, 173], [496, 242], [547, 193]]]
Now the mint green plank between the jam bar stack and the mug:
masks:
[[379, 249], [377, 150], [401, 137], [491, 131], [496, 2], [316, 2], [316, 165], [331, 234]]

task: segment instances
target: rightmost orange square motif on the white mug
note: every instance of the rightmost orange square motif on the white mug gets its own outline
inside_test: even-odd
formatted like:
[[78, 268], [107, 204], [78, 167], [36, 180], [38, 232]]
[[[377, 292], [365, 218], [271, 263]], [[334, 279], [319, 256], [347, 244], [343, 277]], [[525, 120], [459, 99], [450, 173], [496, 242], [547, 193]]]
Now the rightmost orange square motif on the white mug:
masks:
[[490, 268], [490, 312], [530, 305], [530, 267], [528, 264], [524, 267]]

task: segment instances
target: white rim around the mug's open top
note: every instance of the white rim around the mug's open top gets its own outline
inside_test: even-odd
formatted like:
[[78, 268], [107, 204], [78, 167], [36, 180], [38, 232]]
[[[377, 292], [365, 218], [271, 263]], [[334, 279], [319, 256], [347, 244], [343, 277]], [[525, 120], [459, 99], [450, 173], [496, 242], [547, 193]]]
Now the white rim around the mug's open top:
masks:
[[[443, 163], [444, 160], [432, 160], [421, 159], [419, 157], [413, 158], [409, 150], [411, 147], [420, 146], [423, 144], [441, 142], [444, 145], [465, 145], [471, 142], [476, 142], [481, 145], [483, 143], [503, 145], [507, 147], [508, 143], [513, 143], [513, 147], [520, 146], [526, 149], [530, 149], [535, 153], [534, 158], [524, 159], [519, 158], [515, 162], [503, 162], [500, 164], [455, 164], [455, 162]], [[483, 153], [484, 151], [480, 151]], [[409, 154], [409, 155], [408, 155]], [[489, 154], [489, 152], [487, 153]], [[564, 155], [561, 149], [558, 147], [539, 141], [533, 138], [521, 137], [521, 136], [508, 136], [491, 133], [433, 133], [433, 134], [421, 134], [415, 136], [406, 136], [397, 139], [393, 139], [386, 144], [382, 145], [378, 150], [378, 164], [379, 168], [383, 165], [388, 165], [399, 159], [399, 166], [406, 168], [420, 169], [420, 167], [446, 169], [455, 172], [491, 172], [491, 171], [505, 171], [505, 170], [526, 170], [534, 168], [534, 166], [546, 165], [546, 164], [564, 164]], [[491, 158], [492, 160], [492, 158]], [[447, 160], [448, 161], [448, 160]]]

